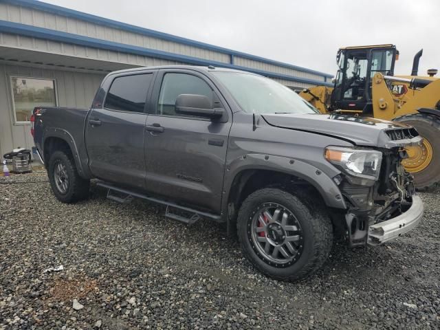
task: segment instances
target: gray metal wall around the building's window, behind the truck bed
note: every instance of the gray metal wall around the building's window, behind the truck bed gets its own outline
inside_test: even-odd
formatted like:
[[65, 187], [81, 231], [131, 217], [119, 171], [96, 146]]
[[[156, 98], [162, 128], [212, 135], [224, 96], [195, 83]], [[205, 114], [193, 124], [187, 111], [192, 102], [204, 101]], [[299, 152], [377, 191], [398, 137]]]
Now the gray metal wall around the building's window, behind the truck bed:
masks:
[[11, 146], [31, 148], [30, 124], [14, 124], [10, 76], [26, 78], [52, 78], [56, 84], [58, 106], [90, 107], [98, 89], [102, 74], [87, 74], [36, 67], [23, 67], [0, 63], [0, 155], [10, 151]]

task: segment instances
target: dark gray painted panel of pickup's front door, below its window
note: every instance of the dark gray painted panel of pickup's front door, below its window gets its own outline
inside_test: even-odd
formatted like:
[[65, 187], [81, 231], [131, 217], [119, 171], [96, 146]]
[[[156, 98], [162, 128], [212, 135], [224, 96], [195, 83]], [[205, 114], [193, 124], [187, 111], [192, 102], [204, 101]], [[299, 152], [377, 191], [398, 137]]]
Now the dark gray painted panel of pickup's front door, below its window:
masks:
[[[219, 211], [231, 122], [148, 115], [163, 133], [146, 131], [146, 187], [159, 195]], [[223, 140], [223, 146], [209, 140]]]

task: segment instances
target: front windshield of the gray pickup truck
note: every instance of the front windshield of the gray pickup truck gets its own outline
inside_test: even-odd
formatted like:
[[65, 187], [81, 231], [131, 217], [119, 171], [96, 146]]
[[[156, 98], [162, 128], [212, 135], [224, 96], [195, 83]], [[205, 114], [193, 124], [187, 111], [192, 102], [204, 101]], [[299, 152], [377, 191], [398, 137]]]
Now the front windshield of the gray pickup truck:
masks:
[[247, 113], [316, 113], [309, 102], [274, 80], [241, 72], [212, 72]]

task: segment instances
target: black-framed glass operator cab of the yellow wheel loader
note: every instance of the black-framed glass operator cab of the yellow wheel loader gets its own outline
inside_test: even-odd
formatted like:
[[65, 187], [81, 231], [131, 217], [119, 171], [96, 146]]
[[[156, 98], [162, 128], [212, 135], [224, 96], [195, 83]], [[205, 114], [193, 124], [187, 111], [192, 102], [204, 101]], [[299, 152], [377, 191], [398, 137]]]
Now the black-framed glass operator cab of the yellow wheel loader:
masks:
[[334, 109], [373, 113], [371, 79], [377, 72], [393, 76], [398, 52], [394, 45], [345, 47], [338, 51], [338, 73], [331, 94]]

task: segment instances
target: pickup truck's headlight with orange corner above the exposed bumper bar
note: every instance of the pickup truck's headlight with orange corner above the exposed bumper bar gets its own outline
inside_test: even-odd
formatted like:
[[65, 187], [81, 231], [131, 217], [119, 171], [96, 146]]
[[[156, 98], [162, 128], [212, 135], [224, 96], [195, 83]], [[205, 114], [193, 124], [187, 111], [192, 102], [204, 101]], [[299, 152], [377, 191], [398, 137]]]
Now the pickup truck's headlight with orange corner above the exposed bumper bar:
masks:
[[377, 180], [382, 164], [382, 153], [372, 149], [327, 146], [325, 159], [349, 175]]

